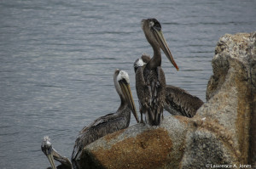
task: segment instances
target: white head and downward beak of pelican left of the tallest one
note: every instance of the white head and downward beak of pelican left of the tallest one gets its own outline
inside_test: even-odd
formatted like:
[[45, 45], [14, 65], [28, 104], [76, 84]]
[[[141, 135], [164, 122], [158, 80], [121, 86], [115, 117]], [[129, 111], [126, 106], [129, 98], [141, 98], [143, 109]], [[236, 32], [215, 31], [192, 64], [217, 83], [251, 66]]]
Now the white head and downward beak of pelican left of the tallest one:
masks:
[[116, 81], [118, 82], [119, 93], [128, 103], [132, 114], [135, 116], [136, 121], [139, 122], [137, 110], [131, 94], [130, 79], [128, 73], [124, 70], [115, 70], [114, 75], [116, 77]]

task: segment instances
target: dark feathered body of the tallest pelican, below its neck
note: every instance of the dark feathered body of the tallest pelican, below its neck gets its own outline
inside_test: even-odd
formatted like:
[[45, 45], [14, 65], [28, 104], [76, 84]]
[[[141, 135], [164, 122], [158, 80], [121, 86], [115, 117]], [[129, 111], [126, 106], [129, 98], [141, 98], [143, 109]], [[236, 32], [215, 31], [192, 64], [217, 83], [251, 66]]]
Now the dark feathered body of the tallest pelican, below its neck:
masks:
[[158, 125], [160, 118], [162, 118], [166, 99], [164, 71], [160, 66], [156, 70], [149, 70], [147, 67], [145, 69], [143, 67], [138, 68], [136, 73], [136, 89], [141, 111], [147, 115], [147, 122]]

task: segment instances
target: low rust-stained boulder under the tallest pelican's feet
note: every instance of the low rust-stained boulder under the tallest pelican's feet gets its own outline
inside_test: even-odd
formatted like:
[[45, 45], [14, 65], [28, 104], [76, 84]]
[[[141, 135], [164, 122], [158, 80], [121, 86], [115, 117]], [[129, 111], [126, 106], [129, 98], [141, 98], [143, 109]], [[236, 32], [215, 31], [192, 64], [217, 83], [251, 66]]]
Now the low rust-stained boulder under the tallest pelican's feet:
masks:
[[166, 118], [160, 127], [137, 124], [85, 147], [83, 168], [178, 167], [188, 131], [188, 118]]

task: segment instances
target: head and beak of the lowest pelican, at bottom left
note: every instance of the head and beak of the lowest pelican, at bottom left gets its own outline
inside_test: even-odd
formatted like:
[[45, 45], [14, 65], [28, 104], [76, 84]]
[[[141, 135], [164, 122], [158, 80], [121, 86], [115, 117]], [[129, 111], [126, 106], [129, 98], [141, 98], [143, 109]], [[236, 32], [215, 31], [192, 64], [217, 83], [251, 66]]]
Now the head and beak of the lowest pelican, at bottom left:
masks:
[[44, 136], [43, 143], [41, 145], [41, 149], [44, 152], [44, 155], [47, 156], [47, 158], [49, 160], [49, 163], [50, 163], [50, 166], [53, 169], [56, 169], [55, 161], [54, 161], [54, 157], [53, 157], [54, 149], [52, 148], [52, 144], [49, 141], [50, 141], [49, 137], [48, 136]]

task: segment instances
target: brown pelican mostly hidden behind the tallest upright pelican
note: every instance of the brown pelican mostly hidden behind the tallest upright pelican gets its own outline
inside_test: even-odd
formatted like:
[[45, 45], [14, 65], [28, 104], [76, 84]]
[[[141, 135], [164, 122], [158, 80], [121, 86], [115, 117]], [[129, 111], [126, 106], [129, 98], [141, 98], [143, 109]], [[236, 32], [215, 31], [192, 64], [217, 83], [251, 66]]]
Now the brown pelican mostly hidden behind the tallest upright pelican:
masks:
[[[134, 62], [134, 71], [137, 73], [137, 69], [143, 69], [143, 66], [147, 65], [150, 57], [146, 54]], [[186, 90], [180, 87], [174, 87], [172, 85], [166, 85], [166, 102], [164, 109], [172, 115], [183, 115], [187, 117], [193, 117], [203, 102], [196, 96], [192, 96]]]

